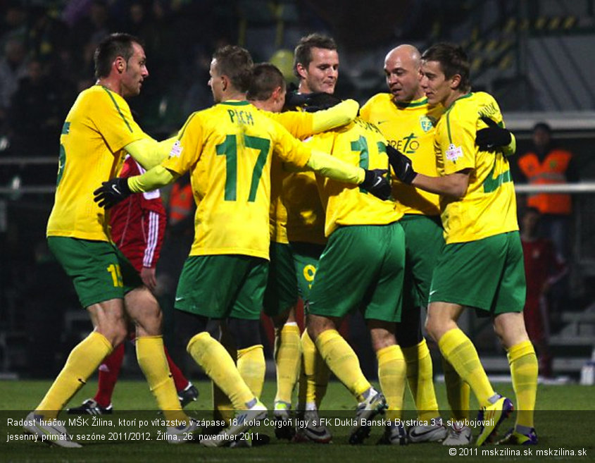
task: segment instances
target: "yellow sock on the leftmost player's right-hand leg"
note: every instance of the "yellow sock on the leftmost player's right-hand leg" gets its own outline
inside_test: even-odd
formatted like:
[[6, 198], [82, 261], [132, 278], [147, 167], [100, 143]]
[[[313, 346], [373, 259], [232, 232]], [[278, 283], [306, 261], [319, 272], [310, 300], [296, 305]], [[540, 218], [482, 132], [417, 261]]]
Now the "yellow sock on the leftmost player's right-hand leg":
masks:
[[186, 421], [187, 416], [177, 398], [168, 359], [163, 350], [163, 336], [140, 336], [136, 345], [137, 361], [163, 416], [165, 419]]

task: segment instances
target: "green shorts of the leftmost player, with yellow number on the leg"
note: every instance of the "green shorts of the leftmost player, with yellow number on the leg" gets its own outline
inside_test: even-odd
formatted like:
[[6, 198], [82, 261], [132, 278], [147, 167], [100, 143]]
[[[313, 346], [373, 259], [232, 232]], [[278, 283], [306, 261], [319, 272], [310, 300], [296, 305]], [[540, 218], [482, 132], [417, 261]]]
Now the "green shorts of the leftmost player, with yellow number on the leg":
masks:
[[49, 236], [47, 244], [73, 278], [82, 307], [123, 299], [127, 292], [143, 284], [130, 261], [111, 242]]

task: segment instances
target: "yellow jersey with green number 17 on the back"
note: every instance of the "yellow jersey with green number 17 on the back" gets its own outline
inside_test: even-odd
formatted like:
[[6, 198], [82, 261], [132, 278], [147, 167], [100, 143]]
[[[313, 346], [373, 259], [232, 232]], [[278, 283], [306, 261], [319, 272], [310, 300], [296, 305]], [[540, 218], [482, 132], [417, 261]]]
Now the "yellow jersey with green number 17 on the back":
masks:
[[269, 257], [271, 158], [302, 168], [310, 149], [248, 101], [193, 113], [161, 164], [190, 171], [196, 202], [190, 255]]

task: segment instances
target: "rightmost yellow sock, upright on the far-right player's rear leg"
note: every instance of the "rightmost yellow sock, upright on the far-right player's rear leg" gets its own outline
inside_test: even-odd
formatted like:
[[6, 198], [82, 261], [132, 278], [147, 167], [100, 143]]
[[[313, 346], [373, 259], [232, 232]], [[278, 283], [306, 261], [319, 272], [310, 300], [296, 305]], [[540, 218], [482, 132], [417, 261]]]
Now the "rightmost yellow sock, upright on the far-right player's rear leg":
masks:
[[508, 364], [517, 402], [517, 426], [534, 427], [533, 414], [537, 397], [537, 356], [531, 341], [519, 342], [508, 349]]

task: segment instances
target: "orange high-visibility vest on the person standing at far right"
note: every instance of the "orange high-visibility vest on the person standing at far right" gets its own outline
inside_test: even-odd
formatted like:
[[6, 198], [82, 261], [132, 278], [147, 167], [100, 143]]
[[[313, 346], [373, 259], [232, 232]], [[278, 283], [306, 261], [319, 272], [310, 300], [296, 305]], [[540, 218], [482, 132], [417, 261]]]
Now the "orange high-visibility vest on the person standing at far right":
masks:
[[[566, 169], [572, 158], [564, 149], [553, 149], [542, 163], [535, 153], [527, 153], [520, 157], [518, 166], [525, 174], [530, 185], [554, 185], [566, 183]], [[527, 206], [539, 209], [541, 214], [564, 214], [572, 211], [570, 195], [560, 193], [537, 193], [530, 195]]]

